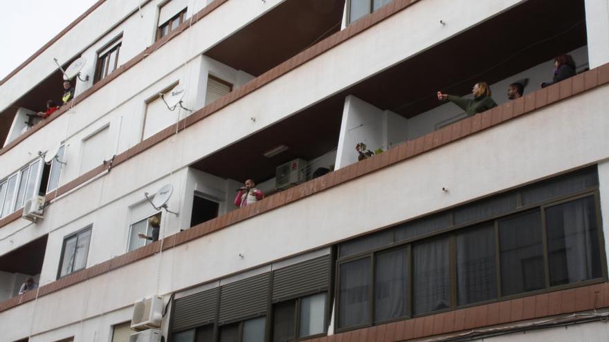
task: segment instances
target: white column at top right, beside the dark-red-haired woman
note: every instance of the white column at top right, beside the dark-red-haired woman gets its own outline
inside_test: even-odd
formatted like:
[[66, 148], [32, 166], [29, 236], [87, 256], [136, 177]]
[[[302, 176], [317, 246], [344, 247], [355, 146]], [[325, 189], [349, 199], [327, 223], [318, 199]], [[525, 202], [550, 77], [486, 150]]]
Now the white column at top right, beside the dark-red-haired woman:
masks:
[[609, 0], [585, 0], [590, 68], [609, 63]]

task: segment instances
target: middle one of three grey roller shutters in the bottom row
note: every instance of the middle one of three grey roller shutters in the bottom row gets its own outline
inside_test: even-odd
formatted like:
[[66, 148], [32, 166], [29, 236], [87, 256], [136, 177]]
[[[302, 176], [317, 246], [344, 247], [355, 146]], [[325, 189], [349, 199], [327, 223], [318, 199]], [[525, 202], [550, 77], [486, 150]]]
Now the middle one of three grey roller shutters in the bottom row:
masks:
[[220, 289], [219, 323], [264, 314], [269, 298], [270, 273], [224, 285]]

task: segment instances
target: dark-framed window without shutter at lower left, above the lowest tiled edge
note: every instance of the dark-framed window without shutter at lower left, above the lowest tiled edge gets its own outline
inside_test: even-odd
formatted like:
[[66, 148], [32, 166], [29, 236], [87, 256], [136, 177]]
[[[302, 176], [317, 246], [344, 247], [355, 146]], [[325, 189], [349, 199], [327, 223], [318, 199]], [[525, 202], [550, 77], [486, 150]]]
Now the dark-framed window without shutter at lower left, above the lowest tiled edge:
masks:
[[87, 266], [90, 240], [91, 227], [64, 239], [62, 258], [60, 260], [60, 269], [57, 278], [62, 278], [80, 269], [84, 269], [84, 267]]

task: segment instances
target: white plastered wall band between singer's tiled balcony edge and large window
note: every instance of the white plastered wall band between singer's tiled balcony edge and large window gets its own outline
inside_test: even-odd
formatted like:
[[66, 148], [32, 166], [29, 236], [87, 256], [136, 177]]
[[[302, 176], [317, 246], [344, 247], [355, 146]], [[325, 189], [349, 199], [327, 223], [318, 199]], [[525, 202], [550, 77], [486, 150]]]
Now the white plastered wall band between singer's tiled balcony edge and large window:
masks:
[[[8, 336], [18, 339], [30, 331], [32, 321], [33, 334], [80, 320], [95, 321], [98, 315], [143, 296], [167, 295], [597, 162], [601, 162], [604, 198], [609, 196], [604, 179], [609, 157], [605, 132], [609, 125], [605, 115], [608, 95], [609, 86], [596, 88], [49, 294], [39, 298], [38, 304], [19, 305], [0, 313], [0, 325], [14, 325]], [[395, 191], [397, 187], [402, 190]], [[446, 193], [442, 187], [450, 191]], [[603, 202], [605, 217], [606, 207]], [[115, 213], [108, 210], [104, 215]], [[39, 310], [35, 310], [33, 320], [12, 319], [34, 305]]]

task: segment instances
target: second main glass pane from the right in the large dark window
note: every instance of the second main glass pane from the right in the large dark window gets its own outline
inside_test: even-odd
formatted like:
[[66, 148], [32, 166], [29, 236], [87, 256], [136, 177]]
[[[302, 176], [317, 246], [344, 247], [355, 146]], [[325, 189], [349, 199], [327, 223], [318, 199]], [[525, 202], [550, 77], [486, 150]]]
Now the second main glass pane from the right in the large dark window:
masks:
[[545, 287], [539, 210], [499, 221], [502, 296]]

